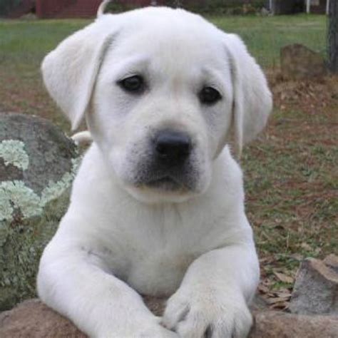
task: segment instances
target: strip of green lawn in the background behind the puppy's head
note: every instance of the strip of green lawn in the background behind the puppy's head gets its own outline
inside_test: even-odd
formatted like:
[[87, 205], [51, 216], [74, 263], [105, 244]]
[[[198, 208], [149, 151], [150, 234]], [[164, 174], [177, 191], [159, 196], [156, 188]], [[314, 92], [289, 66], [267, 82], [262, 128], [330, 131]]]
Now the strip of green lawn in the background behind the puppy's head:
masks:
[[[220, 29], [242, 36], [262, 66], [279, 63], [280, 47], [304, 43], [325, 53], [326, 17], [297, 16], [210, 16]], [[88, 20], [0, 21], [0, 51], [3, 61], [35, 65], [47, 51]]]

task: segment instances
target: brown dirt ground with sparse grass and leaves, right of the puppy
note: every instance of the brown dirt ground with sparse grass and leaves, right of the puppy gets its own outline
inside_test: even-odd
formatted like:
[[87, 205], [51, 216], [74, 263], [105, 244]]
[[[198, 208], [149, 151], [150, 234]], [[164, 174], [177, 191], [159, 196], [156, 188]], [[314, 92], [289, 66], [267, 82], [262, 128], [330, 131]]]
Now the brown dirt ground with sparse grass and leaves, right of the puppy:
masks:
[[299, 262], [338, 252], [338, 76], [283, 81], [275, 110], [243, 159], [247, 212], [260, 253], [260, 293], [287, 309]]

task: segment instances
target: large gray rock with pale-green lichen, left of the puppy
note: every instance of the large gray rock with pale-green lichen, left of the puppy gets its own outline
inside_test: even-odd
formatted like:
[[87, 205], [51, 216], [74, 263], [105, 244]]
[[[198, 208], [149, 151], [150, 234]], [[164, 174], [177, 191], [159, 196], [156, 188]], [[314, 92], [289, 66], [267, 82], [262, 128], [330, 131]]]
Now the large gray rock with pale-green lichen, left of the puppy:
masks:
[[66, 212], [77, 165], [61, 129], [0, 113], [0, 311], [34, 297], [39, 257]]

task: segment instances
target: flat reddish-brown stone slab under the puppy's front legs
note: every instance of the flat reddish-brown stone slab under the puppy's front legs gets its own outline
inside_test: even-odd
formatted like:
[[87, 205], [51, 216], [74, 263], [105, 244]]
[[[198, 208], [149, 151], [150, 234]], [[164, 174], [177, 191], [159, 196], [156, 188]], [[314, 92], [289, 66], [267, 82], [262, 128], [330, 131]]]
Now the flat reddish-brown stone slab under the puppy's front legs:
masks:
[[[148, 298], [153, 312], [163, 311], [165, 299]], [[305, 316], [284, 312], [254, 312], [250, 338], [337, 338], [337, 316]], [[1, 338], [86, 338], [68, 319], [39, 301], [30, 299], [0, 314]]]

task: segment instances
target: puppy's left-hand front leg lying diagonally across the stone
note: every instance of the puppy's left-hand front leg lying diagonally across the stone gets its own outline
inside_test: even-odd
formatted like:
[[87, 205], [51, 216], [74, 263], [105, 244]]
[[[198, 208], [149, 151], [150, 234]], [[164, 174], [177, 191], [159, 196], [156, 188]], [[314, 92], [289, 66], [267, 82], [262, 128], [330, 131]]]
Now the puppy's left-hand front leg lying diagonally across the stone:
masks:
[[38, 293], [89, 337], [177, 337], [99, 257], [64, 234], [56, 234], [43, 252]]

